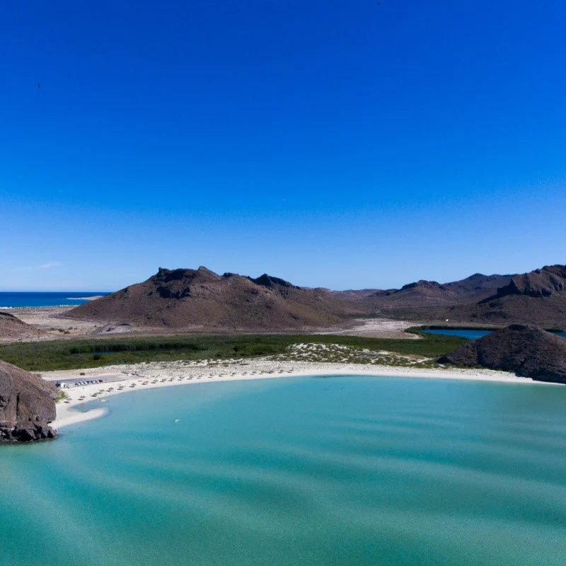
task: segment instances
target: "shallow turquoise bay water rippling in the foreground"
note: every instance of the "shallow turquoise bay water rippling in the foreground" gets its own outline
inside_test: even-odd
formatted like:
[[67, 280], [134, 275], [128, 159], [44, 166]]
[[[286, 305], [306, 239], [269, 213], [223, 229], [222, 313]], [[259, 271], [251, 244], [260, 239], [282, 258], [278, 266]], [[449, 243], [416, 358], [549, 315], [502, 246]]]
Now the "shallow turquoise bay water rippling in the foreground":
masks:
[[566, 564], [566, 388], [289, 378], [100, 406], [0, 451], [2, 566]]

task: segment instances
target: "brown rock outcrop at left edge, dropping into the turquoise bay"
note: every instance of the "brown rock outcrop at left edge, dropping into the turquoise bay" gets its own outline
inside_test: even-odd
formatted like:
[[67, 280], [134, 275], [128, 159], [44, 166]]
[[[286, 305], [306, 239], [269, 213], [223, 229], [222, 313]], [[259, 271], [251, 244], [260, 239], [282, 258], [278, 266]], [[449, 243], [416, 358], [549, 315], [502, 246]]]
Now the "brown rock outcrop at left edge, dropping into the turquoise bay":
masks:
[[53, 439], [57, 388], [0, 361], [0, 443]]

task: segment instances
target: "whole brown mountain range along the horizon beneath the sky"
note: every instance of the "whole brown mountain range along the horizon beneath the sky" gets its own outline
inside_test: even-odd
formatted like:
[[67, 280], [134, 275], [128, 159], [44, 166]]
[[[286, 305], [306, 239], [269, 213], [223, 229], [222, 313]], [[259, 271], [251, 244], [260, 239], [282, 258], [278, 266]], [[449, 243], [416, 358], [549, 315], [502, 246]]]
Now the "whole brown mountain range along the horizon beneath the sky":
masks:
[[310, 289], [262, 275], [160, 268], [143, 283], [73, 308], [66, 318], [183, 330], [279, 331], [347, 326], [381, 316], [454, 323], [566, 326], [566, 266], [401, 289]]

